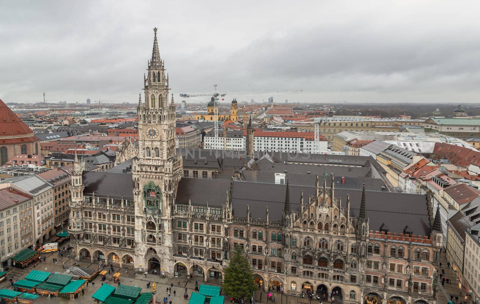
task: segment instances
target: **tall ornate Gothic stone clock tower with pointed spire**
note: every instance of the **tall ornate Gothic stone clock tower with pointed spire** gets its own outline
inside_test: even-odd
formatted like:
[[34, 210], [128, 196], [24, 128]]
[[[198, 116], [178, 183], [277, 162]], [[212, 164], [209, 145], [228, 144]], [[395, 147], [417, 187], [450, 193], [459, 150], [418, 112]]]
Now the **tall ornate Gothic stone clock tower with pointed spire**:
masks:
[[[144, 75], [144, 102], [138, 101], [138, 155], [132, 160], [135, 202], [135, 268], [172, 268], [171, 214], [181, 178], [175, 152], [175, 105], [168, 102], [168, 74], [154, 28], [152, 58]], [[160, 264], [160, 265], [159, 265]], [[160, 270], [159, 270], [160, 271]]]

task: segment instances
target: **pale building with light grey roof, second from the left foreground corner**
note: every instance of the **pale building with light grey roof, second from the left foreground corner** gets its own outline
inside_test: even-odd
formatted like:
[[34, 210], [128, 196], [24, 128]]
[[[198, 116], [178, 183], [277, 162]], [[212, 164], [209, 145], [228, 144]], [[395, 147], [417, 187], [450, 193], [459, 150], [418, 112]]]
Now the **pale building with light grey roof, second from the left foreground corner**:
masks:
[[[0, 184], [0, 188], [12, 187], [33, 197], [35, 246], [41, 246], [53, 235], [52, 185], [37, 175], [12, 177]], [[35, 248], [34, 248], [35, 249]]]

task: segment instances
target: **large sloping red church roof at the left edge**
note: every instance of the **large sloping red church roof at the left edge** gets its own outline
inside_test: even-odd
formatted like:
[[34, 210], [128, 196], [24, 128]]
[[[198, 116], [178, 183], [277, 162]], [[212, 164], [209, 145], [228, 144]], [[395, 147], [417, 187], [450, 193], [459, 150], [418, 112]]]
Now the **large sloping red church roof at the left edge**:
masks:
[[[33, 131], [13, 111], [0, 99], [0, 139], [3, 137], [31, 135], [30, 138], [24, 138], [24, 142], [39, 140], [34, 136]], [[12, 140], [10, 140], [12, 141]], [[22, 140], [14, 138], [12, 142], [1, 141], [0, 143], [21, 143]]]

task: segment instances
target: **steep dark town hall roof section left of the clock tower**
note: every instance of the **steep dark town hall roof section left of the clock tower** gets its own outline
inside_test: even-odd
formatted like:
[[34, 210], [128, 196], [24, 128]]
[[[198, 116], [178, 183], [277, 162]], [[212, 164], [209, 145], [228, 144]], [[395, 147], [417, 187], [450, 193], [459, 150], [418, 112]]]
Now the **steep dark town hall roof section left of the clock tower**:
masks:
[[108, 172], [84, 172], [84, 195], [107, 196], [110, 198], [133, 199], [132, 174]]

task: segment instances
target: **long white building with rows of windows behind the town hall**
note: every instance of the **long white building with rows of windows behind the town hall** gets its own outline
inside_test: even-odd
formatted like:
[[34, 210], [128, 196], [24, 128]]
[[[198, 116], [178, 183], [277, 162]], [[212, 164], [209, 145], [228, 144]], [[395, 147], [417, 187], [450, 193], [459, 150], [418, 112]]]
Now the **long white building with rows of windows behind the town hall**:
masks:
[[[227, 130], [226, 133], [227, 136], [225, 138], [223, 131], [219, 131], [218, 138], [215, 138], [213, 131], [207, 133], [204, 137], [204, 148], [245, 150], [246, 132], [242, 130]], [[256, 129], [253, 134], [254, 151], [313, 153], [313, 132], [265, 131]], [[322, 137], [321, 139], [319, 151], [327, 151], [327, 140], [324, 140]]]

